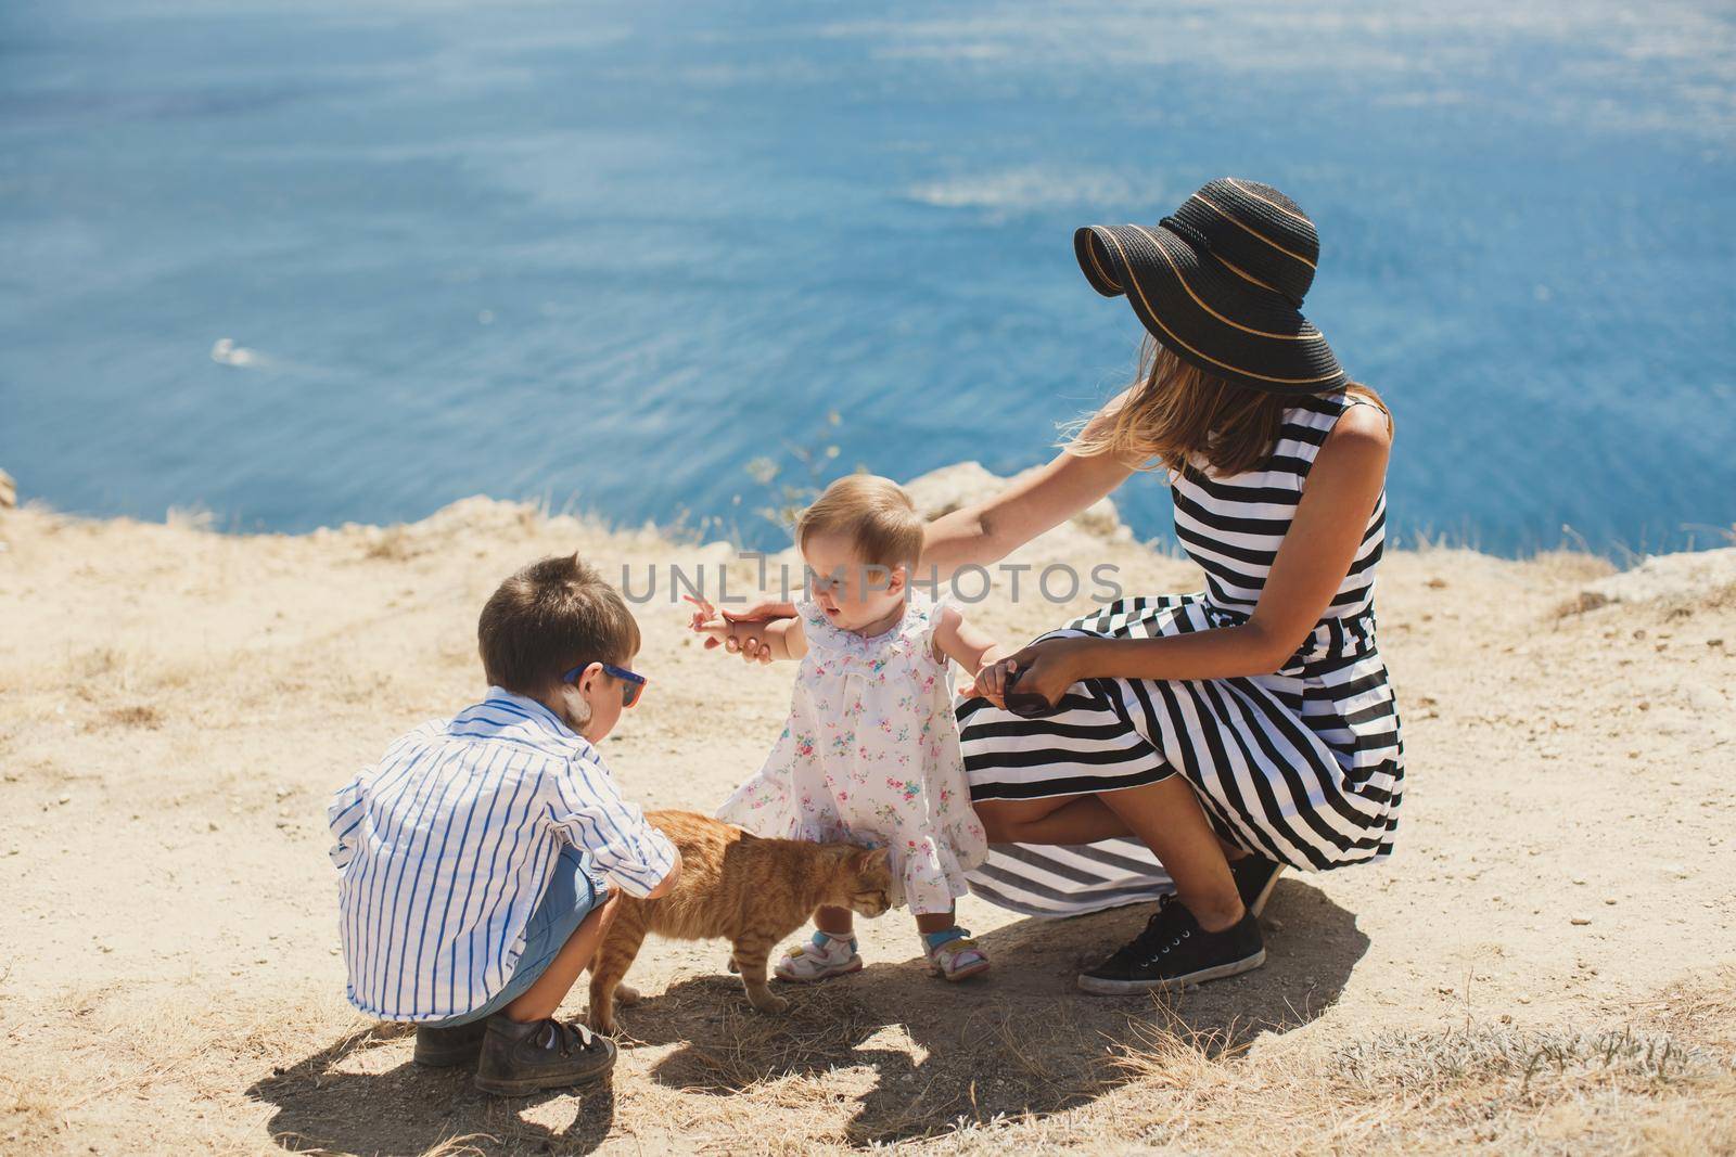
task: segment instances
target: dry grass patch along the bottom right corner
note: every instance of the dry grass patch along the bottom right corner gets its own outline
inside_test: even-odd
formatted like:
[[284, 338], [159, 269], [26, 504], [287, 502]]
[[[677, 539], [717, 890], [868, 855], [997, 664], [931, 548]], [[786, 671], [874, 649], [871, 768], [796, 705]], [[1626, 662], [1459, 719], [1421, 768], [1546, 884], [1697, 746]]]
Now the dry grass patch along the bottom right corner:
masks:
[[[1736, 970], [1641, 1006], [1677, 1030], [1467, 1023], [1338, 1048], [1198, 1030], [1160, 1006], [1064, 1117], [960, 1122], [948, 1148], [1213, 1154], [1736, 1152]], [[1059, 1121], [1066, 1128], [1057, 1128]]]

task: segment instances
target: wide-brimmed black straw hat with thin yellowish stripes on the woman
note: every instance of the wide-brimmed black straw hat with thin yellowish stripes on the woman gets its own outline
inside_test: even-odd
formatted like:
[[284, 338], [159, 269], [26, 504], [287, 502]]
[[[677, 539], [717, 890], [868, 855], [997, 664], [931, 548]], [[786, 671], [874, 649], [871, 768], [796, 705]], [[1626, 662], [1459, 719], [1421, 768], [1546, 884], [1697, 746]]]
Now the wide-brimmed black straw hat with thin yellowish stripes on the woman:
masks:
[[1302, 316], [1319, 236], [1271, 186], [1220, 177], [1153, 227], [1087, 226], [1073, 250], [1092, 288], [1127, 295], [1182, 361], [1271, 394], [1345, 383], [1326, 338]]

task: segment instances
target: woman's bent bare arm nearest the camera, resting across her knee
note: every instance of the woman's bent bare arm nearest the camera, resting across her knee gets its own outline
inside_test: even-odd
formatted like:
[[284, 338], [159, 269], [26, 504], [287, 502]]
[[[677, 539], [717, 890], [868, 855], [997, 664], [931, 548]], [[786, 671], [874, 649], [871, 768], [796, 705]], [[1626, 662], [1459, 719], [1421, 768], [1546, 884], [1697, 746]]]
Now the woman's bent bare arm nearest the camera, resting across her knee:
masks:
[[[1055, 638], [1009, 663], [1021, 690], [1057, 701], [1082, 678], [1234, 678], [1269, 675], [1295, 654], [1351, 571], [1385, 480], [1392, 434], [1385, 416], [1354, 406], [1338, 418], [1309, 470], [1295, 519], [1253, 614], [1226, 626], [1161, 638]], [[988, 690], [979, 678], [977, 687]]]

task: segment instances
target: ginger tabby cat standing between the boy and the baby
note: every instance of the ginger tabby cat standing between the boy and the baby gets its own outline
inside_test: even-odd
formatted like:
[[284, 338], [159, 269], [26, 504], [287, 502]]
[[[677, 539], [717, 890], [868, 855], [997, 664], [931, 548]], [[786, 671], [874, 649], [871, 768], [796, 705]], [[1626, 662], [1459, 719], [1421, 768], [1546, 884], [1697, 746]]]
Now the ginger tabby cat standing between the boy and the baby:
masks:
[[[847, 907], [873, 918], [889, 905], [885, 848], [849, 843], [762, 840], [694, 812], [648, 812], [681, 850], [681, 879], [658, 900], [620, 897], [615, 923], [590, 964], [590, 1027], [615, 1032], [615, 996], [646, 933], [674, 940], [724, 938], [748, 1001], [762, 1013], [790, 1003], [766, 984], [766, 958], [816, 907]], [[621, 1003], [630, 1003], [621, 989]]]

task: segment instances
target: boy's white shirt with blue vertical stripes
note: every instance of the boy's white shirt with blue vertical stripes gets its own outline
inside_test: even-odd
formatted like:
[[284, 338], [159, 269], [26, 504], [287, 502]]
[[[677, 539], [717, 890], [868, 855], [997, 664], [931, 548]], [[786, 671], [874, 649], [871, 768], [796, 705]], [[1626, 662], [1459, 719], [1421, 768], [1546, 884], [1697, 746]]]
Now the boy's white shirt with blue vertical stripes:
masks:
[[564, 845], [627, 895], [675, 848], [549, 708], [490, 687], [387, 749], [326, 808], [349, 999], [380, 1020], [481, 1008], [512, 975]]

